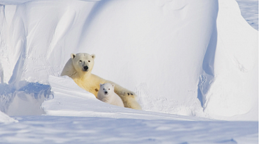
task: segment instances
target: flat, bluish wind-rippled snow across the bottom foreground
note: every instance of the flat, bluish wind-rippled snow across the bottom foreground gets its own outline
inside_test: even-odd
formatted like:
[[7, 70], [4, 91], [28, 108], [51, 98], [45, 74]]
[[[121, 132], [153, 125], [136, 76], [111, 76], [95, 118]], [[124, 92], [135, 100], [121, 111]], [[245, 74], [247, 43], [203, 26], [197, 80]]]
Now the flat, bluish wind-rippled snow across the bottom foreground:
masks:
[[258, 143], [258, 122], [15, 118], [18, 123], [0, 123], [1, 143]]

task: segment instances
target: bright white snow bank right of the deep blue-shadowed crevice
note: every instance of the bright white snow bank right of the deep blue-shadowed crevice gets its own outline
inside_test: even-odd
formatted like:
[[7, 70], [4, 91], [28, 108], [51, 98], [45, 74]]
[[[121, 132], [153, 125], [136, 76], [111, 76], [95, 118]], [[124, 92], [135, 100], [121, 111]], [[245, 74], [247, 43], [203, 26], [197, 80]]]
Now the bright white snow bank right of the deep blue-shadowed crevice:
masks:
[[219, 1], [219, 6], [214, 82], [204, 110], [211, 116], [248, 113], [246, 118], [258, 120], [258, 31], [240, 17], [236, 1]]

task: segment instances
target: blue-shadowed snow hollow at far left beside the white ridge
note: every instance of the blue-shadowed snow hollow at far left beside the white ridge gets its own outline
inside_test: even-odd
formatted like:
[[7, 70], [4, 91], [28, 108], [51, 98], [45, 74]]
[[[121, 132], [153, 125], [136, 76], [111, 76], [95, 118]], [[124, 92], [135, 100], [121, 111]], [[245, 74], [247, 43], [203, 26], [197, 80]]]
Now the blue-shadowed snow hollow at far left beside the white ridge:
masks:
[[42, 115], [41, 104], [45, 99], [52, 99], [50, 85], [38, 82], [20, 81], [18, 85], [1, 85], [0, 110], [12, 115]]

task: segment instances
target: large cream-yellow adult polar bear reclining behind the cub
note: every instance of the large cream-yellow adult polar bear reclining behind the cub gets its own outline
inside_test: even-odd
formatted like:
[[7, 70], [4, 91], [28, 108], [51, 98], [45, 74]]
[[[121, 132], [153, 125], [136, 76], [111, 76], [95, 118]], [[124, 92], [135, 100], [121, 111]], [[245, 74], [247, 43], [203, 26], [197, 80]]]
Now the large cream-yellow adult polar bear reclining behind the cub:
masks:
[[134, 92], [121, 87], [115, 82], [104, 80], [91, 73], [94, 67], [94, 59], [95, 55], [89, 55], [87, 53], [71, 54], [71, 58], [66, 62], [61, 76], [68, 75], [79, 87], [85, 89], [87, 92], [91, 92], [96, 97], [100, 83], [111, 83], [115, 85], [114, 92], [120, 96], [126, 108], [141, 110], [141, 106], [139, 106], [139, 103], [135, 99], [136, 94]]

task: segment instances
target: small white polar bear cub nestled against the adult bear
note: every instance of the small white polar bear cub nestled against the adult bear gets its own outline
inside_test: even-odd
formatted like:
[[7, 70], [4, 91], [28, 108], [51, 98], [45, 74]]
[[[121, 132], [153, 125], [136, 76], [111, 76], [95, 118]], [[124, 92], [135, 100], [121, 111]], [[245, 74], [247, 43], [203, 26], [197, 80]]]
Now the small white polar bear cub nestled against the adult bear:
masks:
[[112, 85], [111, 83], [100, 83], [100, 89], [97, 94], [97, 99], [115, 106], [124, 107], [123, 100], [120, 99], [120, 96], [118, 96], [118, 94], [114, 92], [114, 85]]

